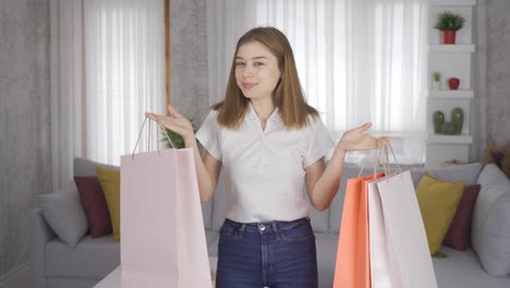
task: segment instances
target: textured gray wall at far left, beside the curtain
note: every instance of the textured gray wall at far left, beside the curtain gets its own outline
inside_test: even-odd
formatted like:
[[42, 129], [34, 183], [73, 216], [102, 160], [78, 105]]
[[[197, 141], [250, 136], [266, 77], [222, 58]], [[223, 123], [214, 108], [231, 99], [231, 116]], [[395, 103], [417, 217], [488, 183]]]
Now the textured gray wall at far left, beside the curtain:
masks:
[[28, 259], [28, 207], [51, 189], [49, 1], [0, 0], [0, 275]]

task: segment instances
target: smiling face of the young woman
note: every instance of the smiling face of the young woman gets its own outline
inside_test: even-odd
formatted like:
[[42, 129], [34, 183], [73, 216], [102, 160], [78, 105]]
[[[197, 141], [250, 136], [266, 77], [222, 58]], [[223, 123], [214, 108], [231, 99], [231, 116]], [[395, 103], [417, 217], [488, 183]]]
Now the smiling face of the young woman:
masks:
[[270, 99], [281, 72], [277, 58], [258, 41], [239, 47], [235, 56], [235, 81], [251, 100]]

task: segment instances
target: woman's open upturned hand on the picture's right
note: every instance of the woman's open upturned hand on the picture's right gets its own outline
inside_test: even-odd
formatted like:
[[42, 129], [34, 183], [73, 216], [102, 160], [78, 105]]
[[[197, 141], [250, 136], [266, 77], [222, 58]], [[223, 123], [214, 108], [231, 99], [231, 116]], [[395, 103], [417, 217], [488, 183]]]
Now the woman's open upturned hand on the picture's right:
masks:
[[386, 145], [389, 141], [389, 137], [375, 137], [371, 134], [363, 133], [371, 127], [372, 123], [365, 123], [343, 133], [342, 137], [337, 144], [337, 148], [347, 153], [349, 151], [374, 149], [377, 146]]

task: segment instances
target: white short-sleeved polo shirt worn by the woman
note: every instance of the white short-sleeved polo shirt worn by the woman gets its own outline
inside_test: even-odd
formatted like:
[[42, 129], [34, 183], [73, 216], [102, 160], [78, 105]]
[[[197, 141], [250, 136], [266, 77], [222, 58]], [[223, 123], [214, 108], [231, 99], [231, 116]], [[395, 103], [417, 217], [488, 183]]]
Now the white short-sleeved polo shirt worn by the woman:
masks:
[[217, 116], [209, 112], [196, 137], [222, 163], [227, 218], [255, 223], [308, 216], [304, 168], [333, 147], [320, 119], [311, 117], [307, 127], [287, 130], [277, 108], [263, 131], [252, 105], [238, 130], [219, 125]]

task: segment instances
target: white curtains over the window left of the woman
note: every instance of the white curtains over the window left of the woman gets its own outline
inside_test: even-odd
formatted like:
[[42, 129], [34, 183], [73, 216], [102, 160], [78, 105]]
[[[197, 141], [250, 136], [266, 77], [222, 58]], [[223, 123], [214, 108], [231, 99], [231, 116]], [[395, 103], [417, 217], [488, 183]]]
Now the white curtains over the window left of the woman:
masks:
[[[162, 0], [52, 0], [53, 188], [75, 156], [119, 165], [145, 111], [165, 112]], [[156, 145], [143, 133], [138, 148]]]

